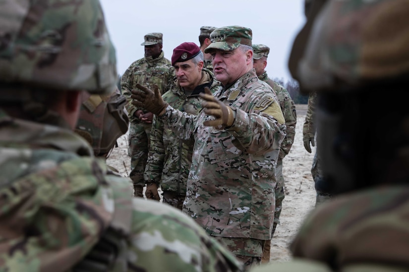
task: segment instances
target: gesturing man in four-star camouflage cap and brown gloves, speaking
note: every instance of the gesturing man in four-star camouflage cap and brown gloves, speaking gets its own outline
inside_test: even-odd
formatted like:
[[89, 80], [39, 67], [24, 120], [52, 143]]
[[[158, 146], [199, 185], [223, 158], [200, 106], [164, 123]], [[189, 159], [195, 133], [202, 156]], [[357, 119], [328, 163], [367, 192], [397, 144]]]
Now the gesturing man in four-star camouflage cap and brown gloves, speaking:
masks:
[[214, 96], [200, 94], [204, 109], [193, 116], [178, 111], [155, 92], [138, 86], [137, 106], [145, 105], [183, 139], [195, 137], [183, 211], [216, 236], [247, 268], [260, 264], [271, 239], [275, 168], [285, 136], [277, 96], [253, 70], [252, 31], [218, 28], [210, 35], [216, 79]]

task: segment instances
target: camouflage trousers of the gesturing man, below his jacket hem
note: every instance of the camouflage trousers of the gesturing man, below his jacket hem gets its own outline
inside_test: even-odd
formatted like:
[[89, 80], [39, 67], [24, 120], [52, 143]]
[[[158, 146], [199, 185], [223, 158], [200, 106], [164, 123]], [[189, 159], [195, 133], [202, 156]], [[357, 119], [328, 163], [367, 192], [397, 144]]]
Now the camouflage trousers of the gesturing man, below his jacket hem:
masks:
[[261, 255], [263, 254], [266, 240], [220, 236], [212, 237], [233, 253], [234, 257], [244, 265], [245, 271], [249, 271], [261, 264]]

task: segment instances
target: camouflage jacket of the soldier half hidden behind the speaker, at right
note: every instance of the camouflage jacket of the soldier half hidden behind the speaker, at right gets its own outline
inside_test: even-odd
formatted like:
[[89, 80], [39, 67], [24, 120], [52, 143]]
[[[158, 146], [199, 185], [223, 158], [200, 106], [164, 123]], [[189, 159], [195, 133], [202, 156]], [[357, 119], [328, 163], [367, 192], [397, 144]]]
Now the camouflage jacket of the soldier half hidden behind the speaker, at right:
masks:
[[294, 142], [295, 125], [297, 123], [297, 113], [295, 111], [294, 101], [291, 99], [290, 93], [286, 88], [277, 82], [269, 79], [267, 72], [264, 72], [258, 77], [266, 82], [276, 92], [278, 101], [280, 102], [281, 110], [283, 111], [284, 119], [286, 120], [286, 137], [281, 143], [279, 159], [283, 159], [289, 152]]

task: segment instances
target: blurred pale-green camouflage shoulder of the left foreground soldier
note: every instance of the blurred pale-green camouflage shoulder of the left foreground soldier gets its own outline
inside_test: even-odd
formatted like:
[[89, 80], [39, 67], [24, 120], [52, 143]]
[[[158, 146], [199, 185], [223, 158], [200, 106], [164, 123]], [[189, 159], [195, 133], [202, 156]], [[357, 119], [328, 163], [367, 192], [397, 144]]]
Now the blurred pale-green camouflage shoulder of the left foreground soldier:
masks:
[[138, 267], [152, 267], [150, 256], [153, 255], [156, 262], [165, 262], [161, 258], [166, 256], [161, 254], [172, 252], [172, 259], [164, 265], [180, 271], [193, 271], [198, 266], [202, 271], [241, 271], [241, 265], [226, 248], [170, 205], [134, 198], [132, 232], [135, 237], [141, 237], [141, 240], [134, 240], [131, 249], [138, 257], [143, 257], [138, 258]]

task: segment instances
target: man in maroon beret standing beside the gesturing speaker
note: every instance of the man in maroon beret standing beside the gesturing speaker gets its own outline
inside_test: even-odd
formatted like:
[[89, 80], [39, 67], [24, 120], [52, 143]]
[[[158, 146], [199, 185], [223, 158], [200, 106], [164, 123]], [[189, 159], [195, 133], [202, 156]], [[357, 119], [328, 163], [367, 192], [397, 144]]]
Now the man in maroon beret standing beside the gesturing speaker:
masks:
[[[162, 98], [175, 109], [197, 115], [203, 99], [199, 93], [208, 87], [219, 90], [220, 82], [203, 68], [203, 53], [194, 43], [178, 45], [172, 55], [176, 77]], [[158, 186], [162, 186], [163, 202], [182, 210], [186, 196], [186, 182], [192, 164], [194, 138], [178, 138], [167, 123], [155, 116], [151, 132], [151, 146], [144, 174], [147, 198], [160, 200]]]

